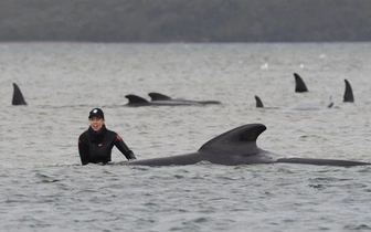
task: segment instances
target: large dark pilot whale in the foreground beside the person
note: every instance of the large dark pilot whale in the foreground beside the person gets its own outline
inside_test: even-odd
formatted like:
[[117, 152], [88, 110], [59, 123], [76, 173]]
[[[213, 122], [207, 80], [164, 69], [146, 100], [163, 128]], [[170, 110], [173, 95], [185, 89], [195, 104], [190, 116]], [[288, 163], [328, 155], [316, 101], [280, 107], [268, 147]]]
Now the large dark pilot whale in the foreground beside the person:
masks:
[[208, 161], [225, 166], [280, 162], [339, 167], [371, 165], [351, 160], [279, 157], [277, 154], [257, 147], [256, 139], [264, 130], [266, 130], [266, 126], [263, 124], [247, 124], [209, 140], [195, 152], [129, 160], [121, 164], [130, 166], [186, 166]]

